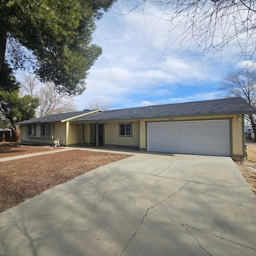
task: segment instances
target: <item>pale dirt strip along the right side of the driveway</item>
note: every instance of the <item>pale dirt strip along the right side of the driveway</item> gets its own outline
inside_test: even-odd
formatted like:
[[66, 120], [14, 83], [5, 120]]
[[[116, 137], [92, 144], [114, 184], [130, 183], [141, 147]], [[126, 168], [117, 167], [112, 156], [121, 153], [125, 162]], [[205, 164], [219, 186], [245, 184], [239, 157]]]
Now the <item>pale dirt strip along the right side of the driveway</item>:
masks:
[[244, 163], [235, 162], [256, 196], [256, 142], [248, 139], [248, 159]]

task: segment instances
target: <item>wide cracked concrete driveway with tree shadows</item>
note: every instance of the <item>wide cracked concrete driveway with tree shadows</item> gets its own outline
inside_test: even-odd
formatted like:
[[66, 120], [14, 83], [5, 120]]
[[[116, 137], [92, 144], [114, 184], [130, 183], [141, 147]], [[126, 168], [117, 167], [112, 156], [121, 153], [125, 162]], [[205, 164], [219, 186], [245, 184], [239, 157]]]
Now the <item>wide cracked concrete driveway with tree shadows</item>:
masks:
[[136, 153], [0, 214], [0, 256], [255, 256], [231, 158]]

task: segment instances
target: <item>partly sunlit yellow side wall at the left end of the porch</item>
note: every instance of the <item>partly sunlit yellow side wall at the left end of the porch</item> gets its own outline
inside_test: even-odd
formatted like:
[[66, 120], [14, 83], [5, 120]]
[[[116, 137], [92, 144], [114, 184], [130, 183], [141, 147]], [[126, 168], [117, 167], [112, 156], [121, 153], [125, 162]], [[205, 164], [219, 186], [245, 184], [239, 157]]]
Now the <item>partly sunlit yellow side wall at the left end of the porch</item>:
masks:
[[67, 146], [81, 144], [82, 124], [66, 122], [66, 134]]

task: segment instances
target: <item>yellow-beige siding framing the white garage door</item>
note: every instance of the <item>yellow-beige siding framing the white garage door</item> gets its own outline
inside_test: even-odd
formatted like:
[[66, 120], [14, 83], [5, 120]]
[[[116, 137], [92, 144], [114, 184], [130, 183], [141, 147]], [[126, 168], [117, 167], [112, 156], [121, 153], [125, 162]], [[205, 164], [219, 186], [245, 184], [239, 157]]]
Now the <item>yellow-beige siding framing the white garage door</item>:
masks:
[[[231, 135], [231, 155], [243, 156], [244, 148], [244, 133], [243, 133], [243, 118], [241, 115], [241, 121], [238, 122], [237, 116], [204, 116], [204, 117], [190, 117], [190, 118], [174, 118], [172, 122], [175, 121], [189, 121], [189, 120], [204, 120], [204, 119], [218, 119], [218, 118], [232, 118], [232, 134]], [[168, 121], [168, 119], [149, 119], [149, 120], [140, 120], [140, 149], [146, 150], [146, 122], [153, 121]]]

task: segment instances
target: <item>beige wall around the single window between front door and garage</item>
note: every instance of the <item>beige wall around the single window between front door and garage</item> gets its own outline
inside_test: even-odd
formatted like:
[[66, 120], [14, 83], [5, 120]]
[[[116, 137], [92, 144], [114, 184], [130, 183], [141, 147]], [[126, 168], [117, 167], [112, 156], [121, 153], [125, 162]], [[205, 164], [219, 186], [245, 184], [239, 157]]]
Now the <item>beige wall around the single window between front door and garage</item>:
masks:
[[132, 136], [119, 136], [119, 124], [121, 122], [107, 122], [104, 125], [104, 139], [106, 145], [139, 146], [139, 122], [138, 120], [122, 123], [132, 123]]

